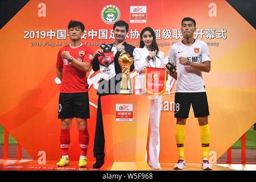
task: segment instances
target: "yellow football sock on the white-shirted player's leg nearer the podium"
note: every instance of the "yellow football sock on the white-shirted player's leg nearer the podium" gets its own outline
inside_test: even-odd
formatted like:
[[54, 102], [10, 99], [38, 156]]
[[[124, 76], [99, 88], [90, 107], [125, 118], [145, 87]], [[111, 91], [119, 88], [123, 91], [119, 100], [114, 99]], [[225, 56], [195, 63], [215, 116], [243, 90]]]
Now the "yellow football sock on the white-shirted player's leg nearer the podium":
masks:
[[185, 125], [176, 125], [176, 144], [177, 144], [177, 150], [179, 151], [180, 159], [185, 159], [184, 143], [185, 143]]

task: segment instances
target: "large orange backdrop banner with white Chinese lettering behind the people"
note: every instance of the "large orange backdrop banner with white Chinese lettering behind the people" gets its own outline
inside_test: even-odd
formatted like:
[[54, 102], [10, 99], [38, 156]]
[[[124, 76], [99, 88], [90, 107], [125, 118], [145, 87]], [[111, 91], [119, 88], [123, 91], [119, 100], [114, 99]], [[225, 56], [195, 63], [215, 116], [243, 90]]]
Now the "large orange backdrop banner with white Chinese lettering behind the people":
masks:
[[[34, 159], [39, 151], [47, 160], [60, 158], [60, 122], [57, 119], [59, 85], [56, 57], [69, 42], [69, 20], [85, 24], [82, 43], [95, 52], [112, 43], [113, 23], [125, 20], [126, 42], [139, 46], [139, 32], [154, 28], [159, 48], [168, 59], [172, 44], [181, 37], [181, 19], [196, 20], [195, 38], [207, 42], [212, 59], [203, 77], [209, 101], [210, 161], [214, 162], [255, 123], [255, 30], [226, 1], [30, 1], [0, 30], [0, 124]], [[137, 73], [131, 73], [134, 79]], [[88, 72], [90, 116], [88, 160], [93, 158], [98, 72]], [[176, 162], [174, 118], [175, 80], [168, 76], [160, 118], [160, 162]], [[200, 130], [193, 112], [186, 126], [187, 162], [200, 162]], [[106, 139], [108, 142], [108, 139]], [[78, 131], [71, 129], [71, 160], [79, 159]]]

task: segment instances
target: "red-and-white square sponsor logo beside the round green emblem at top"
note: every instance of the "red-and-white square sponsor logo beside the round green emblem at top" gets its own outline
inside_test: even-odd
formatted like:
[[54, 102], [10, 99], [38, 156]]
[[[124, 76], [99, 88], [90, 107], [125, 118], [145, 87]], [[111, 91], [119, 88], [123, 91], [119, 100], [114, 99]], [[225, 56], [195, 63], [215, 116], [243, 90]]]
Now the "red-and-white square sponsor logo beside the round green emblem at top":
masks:
[[130, 6], [130, 23], [146, 23], [147, 6]]

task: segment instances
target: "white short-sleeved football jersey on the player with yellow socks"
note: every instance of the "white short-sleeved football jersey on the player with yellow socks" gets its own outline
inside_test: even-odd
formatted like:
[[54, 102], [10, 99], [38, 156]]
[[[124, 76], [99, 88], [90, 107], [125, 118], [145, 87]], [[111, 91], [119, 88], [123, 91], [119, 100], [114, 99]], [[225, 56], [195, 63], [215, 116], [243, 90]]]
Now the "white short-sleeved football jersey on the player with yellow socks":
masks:
[[191, 46], [186, 46], [180, 41], [171, 47], [169, 53], [169, 62], [177, 68], [176, 92], [205, 92], [202, 72], [189, 65], [180, 64], [179, 57], [181, 56], [193, 63], [211, 61], [207, 43], [195, 40]]

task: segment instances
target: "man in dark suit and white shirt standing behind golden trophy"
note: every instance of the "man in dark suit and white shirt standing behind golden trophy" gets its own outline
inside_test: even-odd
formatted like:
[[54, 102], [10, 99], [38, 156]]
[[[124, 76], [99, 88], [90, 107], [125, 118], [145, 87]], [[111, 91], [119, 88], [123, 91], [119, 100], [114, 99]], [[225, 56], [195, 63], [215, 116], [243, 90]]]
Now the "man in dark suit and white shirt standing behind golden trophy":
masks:
[[[97, 109], [97, 121], [96, 121], [96, 131], [94, 137], [94, 147], [93, 155], [96, 158], [96, 163], [93, 164], [93, 168], [100, 168], [104, 164], [104, 127], [102, 121], [101, 113], [101, 96], [108, 94], [119, 94], [120, 93], [120, 80], [122, 77], [122, 69], [118, 63], [118, 57], [121, 53], [127, 52], [133, 56], [134, 46], [130, 46], [125, 42], [126, 35], [129, 31], [129, 25], [123, 21], [119, 20], [114, 23], [113, 33], [115, 42], [111, 44], [112, 48], [108, 59], [102, 59], [104, 51], [98, 49], [96, 51], [96, 56], [93, 59], [92, 68], [96, 72], [100, 69], [101, 80], [98, 86], [98, 109]], [[133, 71], [134, 64], [130, 67], [130, 72]]]

